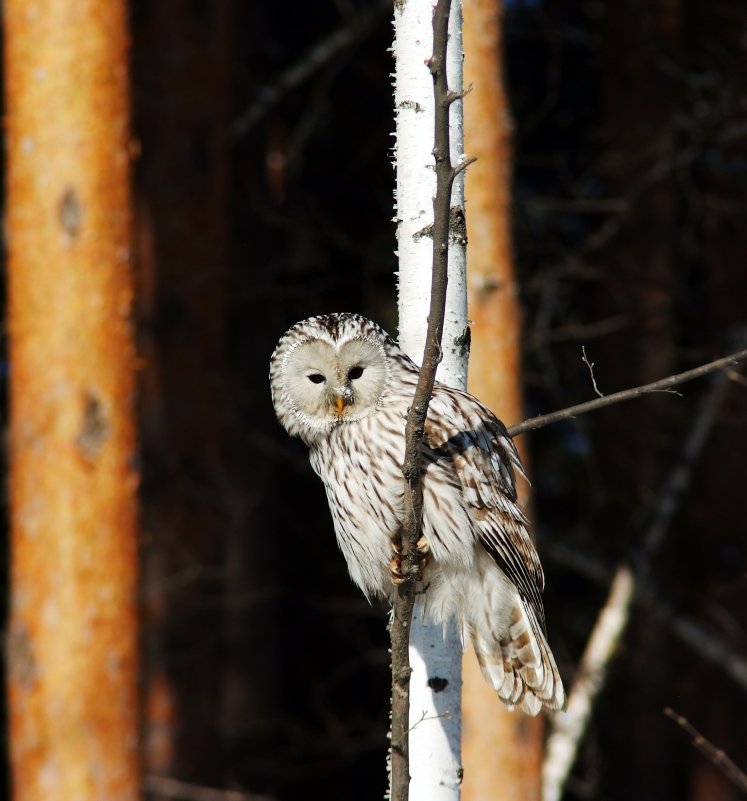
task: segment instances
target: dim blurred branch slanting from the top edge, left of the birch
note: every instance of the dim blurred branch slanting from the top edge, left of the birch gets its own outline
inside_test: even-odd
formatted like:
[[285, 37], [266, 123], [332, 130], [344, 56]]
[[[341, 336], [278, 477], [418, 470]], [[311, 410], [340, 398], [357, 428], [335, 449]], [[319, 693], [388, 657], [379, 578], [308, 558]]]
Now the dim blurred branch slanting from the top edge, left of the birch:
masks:
[[315, 45], [300, 61], [291, 64], [269, 86], [259, 90], [256, 100], [233, 123], [231, 133], [240, 139], [250, 133], [290, 92], [311, 78], [325, 64], [355, 46], [373, 31], [392, 10], [392, 0], [381, 0]]

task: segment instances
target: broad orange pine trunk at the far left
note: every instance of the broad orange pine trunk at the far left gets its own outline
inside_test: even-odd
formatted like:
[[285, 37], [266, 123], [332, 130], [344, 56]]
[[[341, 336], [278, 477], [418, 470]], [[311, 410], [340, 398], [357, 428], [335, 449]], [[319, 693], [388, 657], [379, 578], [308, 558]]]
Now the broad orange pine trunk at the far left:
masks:
[[7, 0], [13, 798], [139, 797], [128, 35]]

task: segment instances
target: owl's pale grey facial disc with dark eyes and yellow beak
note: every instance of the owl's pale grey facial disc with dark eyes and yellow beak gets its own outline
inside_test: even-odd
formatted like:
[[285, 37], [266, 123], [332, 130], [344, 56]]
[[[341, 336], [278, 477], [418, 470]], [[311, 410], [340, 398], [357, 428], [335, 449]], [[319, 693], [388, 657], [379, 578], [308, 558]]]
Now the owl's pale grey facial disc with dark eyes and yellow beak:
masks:
[[387, 381], [386, 355], [365, 339], [334, 345], [310, 340], [286, 363], [286, 391], [296, 414], [315, 427], [360, 420], [375, 411]]

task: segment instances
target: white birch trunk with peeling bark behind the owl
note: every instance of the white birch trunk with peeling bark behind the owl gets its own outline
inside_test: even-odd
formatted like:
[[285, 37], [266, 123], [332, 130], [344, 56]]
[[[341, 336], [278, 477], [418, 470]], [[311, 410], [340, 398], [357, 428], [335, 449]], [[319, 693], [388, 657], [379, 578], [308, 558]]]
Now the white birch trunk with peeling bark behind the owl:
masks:
[[[395, 107], [397, 143], [397, 242], [399, 254], [399, 341], [417, 363], [423, 358], [430, 304], [436, 193], [433, 158], [432, 0], [394, 4]], [[462, 91], [462, 10], [453, 0], [449, 22], [449, 89]], [[451, 106], [451, 161], [464, 158], [462, 102]], [[451, 207], [464, 208], [461, 173], [454, 182]], [[467, 384], [467, 327], [464, 241], [449, 245], [449, 284], [438, 379]], [[416, 602], [410, 636], [410, 801], [458, 801], [461, 785], [462, 644], [456, 626], [444, 631], [423, 619]], [[429, 685], [430, 682], [430, 685]]]

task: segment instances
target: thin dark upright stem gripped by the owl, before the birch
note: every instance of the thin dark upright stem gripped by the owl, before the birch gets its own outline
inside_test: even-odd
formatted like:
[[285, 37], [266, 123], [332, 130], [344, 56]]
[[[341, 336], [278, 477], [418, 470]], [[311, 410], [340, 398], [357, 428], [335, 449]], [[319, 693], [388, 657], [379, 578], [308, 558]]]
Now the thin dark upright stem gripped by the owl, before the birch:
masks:
[[428, 332], [422, 367], [405, 428], [405, 515], [400, 551], [402, 575], [406, 581], [398, 588], [390, 622], [392, 643], [392, 801], [409, 797], [409, 711], [410, 711], [410, 623], [415, 604], [415, 578], [419, 571], [416, 543], [420, 537], [423, 489], [420, 481], [420, 458], [425, 420], [428, 414], [436, 368], [441, 361], [441, 337], [446, 315], [446, 285], [449, 259], [449, 221], [451, 190], [459, 171], [451, 165], [449, 142], [449, 107], [453, 96], [446, 80], [450, 0], [438, 0], [433, 12], [433, 55], [429, 69], [435, 98], [434, 147], [436, 196], [433, 200], [433, 274], [431, 283]]

